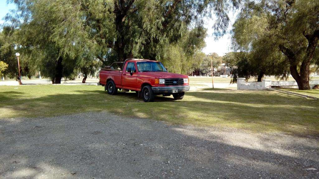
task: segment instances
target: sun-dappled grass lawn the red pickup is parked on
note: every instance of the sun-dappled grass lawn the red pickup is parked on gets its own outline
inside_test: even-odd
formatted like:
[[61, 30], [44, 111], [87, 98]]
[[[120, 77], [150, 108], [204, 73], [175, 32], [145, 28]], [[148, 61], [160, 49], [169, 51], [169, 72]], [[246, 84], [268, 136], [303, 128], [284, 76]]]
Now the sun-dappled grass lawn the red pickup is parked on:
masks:
[[[0, 119], [92, 111], [164, 120], [174, 124], [226, 126], [254, 132], [319, 134], [319, 100], [275, 91], [203, 89], [183, 100], [157, 97], [145, 103], [135, 93], [108, 95], [102, 86], [0, 86]], [[32, 120], [32, 119], [30, 119]]]

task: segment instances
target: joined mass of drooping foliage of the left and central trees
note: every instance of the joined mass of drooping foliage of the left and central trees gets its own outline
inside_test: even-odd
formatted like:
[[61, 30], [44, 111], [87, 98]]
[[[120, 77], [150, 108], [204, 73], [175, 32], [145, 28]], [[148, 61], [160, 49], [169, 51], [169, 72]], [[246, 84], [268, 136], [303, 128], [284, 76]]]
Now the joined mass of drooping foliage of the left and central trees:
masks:
[[227, 12], [238, 5], [237, 0], [9, 2], [18, 7], [6, 20], [15, 30], [13, 44], [23, 55], [23, 69], [28, 74], [40, 70], [54, 83], [127, 58], [163, 60], [174, 72], [186, 74], [201, 63], [196, 59], [201, 59], [206, 36], [202, 17], [213, 10], [215, 35], [221, 36]]

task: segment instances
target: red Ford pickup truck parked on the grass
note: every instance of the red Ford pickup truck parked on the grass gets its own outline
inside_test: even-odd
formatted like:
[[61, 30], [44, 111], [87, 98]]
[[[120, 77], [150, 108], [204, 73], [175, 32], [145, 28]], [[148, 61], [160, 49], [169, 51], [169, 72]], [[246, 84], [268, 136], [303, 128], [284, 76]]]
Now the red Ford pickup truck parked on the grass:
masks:
[[111, 95], [115, 95], [118, 89], [135, 91], [145, 102], [153, 101], [155, 95], [171, 94], [175, 100], [181, 100], [189, 90], [189, 79], [187, 75], [167, 72], [158, 61], [126, 59], [101, 69], [100, 85], [105, 86]]

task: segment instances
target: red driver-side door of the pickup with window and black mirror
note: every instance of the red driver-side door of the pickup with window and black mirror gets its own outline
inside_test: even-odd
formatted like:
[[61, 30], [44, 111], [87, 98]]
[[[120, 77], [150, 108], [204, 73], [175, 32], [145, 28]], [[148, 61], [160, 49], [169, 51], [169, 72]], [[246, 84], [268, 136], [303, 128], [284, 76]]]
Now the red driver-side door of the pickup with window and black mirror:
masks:
[[125, 89], [136, 89], [136, 68], [134, 62], [128, 62], [125, 70], [123, 70], [122, 86]]

